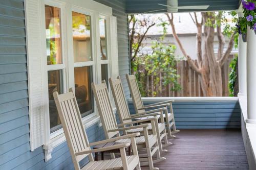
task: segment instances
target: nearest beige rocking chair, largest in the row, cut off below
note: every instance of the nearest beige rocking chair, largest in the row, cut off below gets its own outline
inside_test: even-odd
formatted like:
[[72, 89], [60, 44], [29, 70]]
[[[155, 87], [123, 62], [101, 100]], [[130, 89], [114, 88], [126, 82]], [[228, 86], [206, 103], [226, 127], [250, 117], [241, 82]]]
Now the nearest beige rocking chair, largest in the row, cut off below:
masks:
[[[94, 143], [89, 143], [87, 134], [84, 130], [81, 114], [77, 105], [75, 95], [72, 91], [65, 94], [58, 94], [58, 92], [53, 93], [55, 104], [57, 106], [60, 121], [67, 139], [68, 147], [71, 153], [71, 157], [76, 170], [92, 170], [92, 169], [124, 169], [132, 170], [134, 168], [140, 169], [139, 156], [136, 146], [135, 137], [139, 136], [139, 133], [124, 135], [112, 139], [106, 139]], [[126, 140], [129, 142], [123, 142], [121, 144], [116, 144], [111, 147], [105, 147], [100, 149], [91, 150], [91, 146], [116, 141], [116, 140]], [[127, 140], [126, 140], [127, 141]], [[130, 142], [132, 143], [133, 155], [126, 156], [125, 148], [129, 147]], [[121, 153], [120, 158], [94, 161], [92, 153], [109, 151], [113, 149], [119, 149]], [[89, 157], [89, 163], [82, 168], [79, 166], [79, 161], [85, 157]]]

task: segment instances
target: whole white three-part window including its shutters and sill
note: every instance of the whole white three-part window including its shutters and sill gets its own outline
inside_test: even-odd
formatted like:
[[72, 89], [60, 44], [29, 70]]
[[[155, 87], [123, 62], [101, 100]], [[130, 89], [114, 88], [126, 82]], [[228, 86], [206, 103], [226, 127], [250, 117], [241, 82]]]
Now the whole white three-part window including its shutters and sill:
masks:
[[65, 140], [53, 92], [72, 87], [84, 125], [99, 120], [91, 83], [118, 75], [116, 18], [92, 0], [31, 0], [25, 6], [30, 147], [46, 145], [47, 161], [51, 146]]

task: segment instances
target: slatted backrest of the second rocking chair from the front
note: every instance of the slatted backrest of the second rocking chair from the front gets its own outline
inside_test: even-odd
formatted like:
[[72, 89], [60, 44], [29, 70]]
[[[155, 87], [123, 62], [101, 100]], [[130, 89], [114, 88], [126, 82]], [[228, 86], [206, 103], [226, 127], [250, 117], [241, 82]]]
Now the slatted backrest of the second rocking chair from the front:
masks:
[[92, 83], [92, 89], [106, 138], [119, 136], [119, 132], [108, 132], [117, 129], [117, 123], [105, 81], [101, 84]]

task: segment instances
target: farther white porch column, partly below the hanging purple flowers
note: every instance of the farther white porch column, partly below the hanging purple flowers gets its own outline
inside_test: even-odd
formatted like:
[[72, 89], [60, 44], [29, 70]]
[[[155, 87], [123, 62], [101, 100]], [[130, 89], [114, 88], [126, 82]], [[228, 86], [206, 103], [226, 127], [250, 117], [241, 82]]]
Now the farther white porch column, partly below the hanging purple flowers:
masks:
[[[243, 16], [243, 12], [238, 13], [239, 16]], [[238, 40], [238, 76], [239, 76], [239, 94], [246, 95], [246, 42], [243, 41], [242, 36], [239, 36]]]

